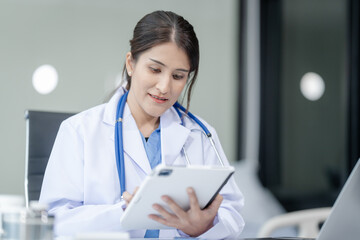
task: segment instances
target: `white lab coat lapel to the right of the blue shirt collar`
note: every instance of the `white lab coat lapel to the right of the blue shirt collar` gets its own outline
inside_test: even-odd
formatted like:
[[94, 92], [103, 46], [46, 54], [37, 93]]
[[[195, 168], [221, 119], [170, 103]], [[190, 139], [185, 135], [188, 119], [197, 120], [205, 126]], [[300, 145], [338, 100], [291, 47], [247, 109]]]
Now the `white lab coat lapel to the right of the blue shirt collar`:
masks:
[[[190, 130], [181, 125], [181, 120], [174, 110], [168, 109], [160, 118], [162, 162], [172, 165], [179, 157], [182, 147], [189, 137]], [[184, 160], [184, 164], [186, 164]]]

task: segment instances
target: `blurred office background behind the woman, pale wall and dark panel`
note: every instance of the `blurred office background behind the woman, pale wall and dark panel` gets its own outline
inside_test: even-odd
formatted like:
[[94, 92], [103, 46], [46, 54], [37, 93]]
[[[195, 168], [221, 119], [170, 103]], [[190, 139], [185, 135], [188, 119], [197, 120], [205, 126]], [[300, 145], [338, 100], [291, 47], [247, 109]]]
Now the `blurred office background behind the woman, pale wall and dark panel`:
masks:
[[[24, 196], [25, 111], [106, 102], [132, 29], [159, 9], [183, 15], [199, 38], [190, 110], [236, 167], [242, 236], [331, 207], [360, 157], [356, 0], [0, 0], [0, 195]], [[34, 80], [44, 66], [57, 74], [47, 89]]]

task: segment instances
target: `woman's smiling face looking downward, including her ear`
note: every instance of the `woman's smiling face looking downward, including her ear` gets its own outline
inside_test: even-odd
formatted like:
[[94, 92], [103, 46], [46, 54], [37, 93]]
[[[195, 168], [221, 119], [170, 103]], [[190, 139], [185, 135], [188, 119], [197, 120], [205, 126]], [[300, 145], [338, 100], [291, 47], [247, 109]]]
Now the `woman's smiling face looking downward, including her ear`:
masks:
[[158, 118], [179, 98], [187, 82], [190, 63], [185, 51], [174, 42], [156, 45], [138, 60], [126, 56], [131, 76], [128, 104], [135, 118]]

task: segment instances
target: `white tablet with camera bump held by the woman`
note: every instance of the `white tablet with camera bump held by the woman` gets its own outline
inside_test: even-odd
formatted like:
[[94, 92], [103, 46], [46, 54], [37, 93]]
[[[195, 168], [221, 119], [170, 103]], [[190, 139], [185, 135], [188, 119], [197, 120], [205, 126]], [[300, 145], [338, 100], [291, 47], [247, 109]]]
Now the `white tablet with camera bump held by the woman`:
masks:
[[170, 228], [154, 220], [149, 214], [158, 214], [152, 208], [158, 203], [167, 209], [161, 196], [168, 195], [184, 210], [189, 209], [188, 187], [195, 190], [201, 208], [206, 208], [234, 173], [234, 168], [220, 166], [157, 166], [141, 184], [122, 215], [124, 230]]

